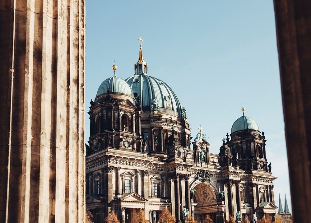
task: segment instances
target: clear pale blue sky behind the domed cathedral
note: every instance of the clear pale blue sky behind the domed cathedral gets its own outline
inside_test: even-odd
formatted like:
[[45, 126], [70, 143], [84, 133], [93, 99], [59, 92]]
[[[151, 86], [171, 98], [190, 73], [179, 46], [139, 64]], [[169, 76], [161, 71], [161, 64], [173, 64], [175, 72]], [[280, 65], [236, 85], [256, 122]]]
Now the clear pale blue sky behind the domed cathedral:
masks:
[[[100, 83], [134, 74], [142, 37], [149, 75], [166, 82], [219, 153], [242, 115], [265, 132], [275, 203], [290, 188], [273, 1], [86, 1], [86, 111]], [[90, 121], [86, 113], [86, 141]]]

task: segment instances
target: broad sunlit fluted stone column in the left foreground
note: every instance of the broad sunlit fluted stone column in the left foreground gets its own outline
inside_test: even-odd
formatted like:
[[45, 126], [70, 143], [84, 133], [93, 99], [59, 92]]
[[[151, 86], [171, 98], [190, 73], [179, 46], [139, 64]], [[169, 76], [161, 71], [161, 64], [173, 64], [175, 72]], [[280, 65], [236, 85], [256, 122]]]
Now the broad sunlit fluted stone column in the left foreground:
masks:
[[1, 0], [0, 222], [85, 218], [84, 0]]

